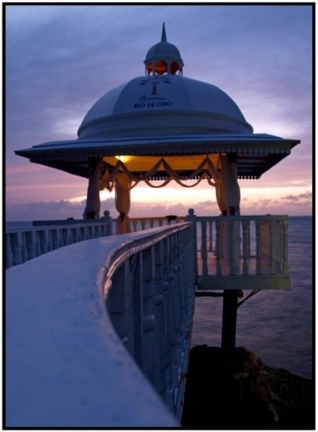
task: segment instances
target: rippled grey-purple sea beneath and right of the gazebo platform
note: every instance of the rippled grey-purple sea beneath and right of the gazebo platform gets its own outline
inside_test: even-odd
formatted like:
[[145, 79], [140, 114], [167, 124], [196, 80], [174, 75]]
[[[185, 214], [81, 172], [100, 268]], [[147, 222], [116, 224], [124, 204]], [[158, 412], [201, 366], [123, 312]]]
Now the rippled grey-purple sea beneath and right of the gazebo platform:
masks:
[[[312, 378], [312, 217], [290, 217], [288, 239], [291, 289], [262, 290], [238, 308], [236, 346], [267, 366]], [[220, 347], [222, 307], [220, 297], [196, 298], [192, 346]]]

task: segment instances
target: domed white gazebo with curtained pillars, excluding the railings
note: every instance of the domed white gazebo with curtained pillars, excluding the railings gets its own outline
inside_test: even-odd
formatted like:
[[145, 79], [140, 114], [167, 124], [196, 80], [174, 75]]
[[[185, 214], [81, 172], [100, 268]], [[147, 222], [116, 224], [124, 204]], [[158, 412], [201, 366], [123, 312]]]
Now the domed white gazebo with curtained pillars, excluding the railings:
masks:
[[151, 187], [172, 180], [185, 187], [206, 181], [216, 188], [220, 212], [240, 215], [237, 179], [259, 179], [300, 140], [253, 133], [223, 90], [184, 77], [182, 57], [167, 42], [165, 24], [144, 65], [145, 76], [100, 97], [76, 140], [34, 145], [16, 154], [88, 178], [84, 219], [100, 218], [100, 191], [114, 188], [119, 233], [129, 232], [130, 190], [140, 181]]

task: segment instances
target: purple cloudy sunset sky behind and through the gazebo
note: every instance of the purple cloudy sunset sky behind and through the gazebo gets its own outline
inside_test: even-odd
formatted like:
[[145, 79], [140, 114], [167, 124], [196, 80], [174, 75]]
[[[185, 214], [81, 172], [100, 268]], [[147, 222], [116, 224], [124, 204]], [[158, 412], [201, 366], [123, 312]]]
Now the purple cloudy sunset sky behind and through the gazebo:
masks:
[[[241, 213], [311, 214], [312, 6], [9, 4], [5, 18], [7, 220], [82, 217], [86, 179], [30, 164], [14, 150], [76, 139], [96, 100], [144, 75], [163, 22], [184, 76], [228, 93], [255, 133], [302, 141], [261, 179], [240, 181]], [[102, 200], [101, 210], [115, 217], [113, 195]], [[189, 207], [219, 213], [206, 184], [155, 196], [137, 186], [131, 201], [131, 216], [182, 215]]]

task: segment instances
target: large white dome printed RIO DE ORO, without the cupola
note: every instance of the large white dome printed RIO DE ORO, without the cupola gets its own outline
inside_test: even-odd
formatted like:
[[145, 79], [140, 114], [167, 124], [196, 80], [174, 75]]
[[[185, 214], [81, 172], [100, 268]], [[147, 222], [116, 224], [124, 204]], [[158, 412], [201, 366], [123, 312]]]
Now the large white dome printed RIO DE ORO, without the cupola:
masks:
[[223, 90], [168, 74], [140, 76], [107, 92], [86, 114], [78, 137], [252, 132]]

